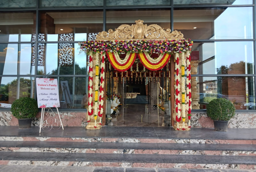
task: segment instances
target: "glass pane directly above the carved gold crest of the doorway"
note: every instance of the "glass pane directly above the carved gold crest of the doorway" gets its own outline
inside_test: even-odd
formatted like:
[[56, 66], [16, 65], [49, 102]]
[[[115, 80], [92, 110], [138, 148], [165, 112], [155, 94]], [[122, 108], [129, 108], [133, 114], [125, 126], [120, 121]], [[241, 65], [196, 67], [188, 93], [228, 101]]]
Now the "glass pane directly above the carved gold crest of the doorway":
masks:
[[162, 28], [170, 28], [170, 10], [161, 9], [140, 9], [140, 10], [118, 10], [107, 11], [106, 13], [106, 30], [114, 30], [120, 25], [134, 25], [135, 21], [140, 19], [144, 21], [144, 25], [157, 24]]

